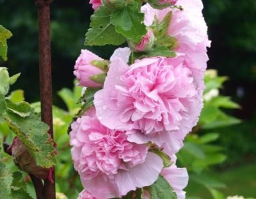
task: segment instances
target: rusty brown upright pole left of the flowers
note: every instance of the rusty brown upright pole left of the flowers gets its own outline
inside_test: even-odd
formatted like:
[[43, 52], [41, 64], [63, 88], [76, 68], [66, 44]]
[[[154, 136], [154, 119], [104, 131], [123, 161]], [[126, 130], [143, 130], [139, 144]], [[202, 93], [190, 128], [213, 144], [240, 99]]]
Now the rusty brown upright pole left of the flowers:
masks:
[[[39, 74], [41, 118], [48, 124], [49, 136], [53, 140], [52, 128], [52, 66], [51, 66], [51, 35], [50, 35], [50, 4], [53, 0], [36, 0], [38, 9], [38, 39], [39, 39]], [[44, 180], [44, 198], [55, 199], [55, 177], [52, 172], [53, 182]]]

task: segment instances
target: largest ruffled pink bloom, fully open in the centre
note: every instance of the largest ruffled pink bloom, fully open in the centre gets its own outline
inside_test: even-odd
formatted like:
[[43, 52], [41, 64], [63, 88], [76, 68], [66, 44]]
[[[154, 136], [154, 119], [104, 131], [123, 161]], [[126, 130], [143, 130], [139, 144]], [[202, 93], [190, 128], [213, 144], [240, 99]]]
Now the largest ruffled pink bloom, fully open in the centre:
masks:
[[94, 95], [97, 118], [110, 129], [127, 131], [131, 142], [166, 144], [175, 153], [198, 121], [203, 79], [180, 54], [136, 60], [130, 67], [112, 58], [104, 88]]

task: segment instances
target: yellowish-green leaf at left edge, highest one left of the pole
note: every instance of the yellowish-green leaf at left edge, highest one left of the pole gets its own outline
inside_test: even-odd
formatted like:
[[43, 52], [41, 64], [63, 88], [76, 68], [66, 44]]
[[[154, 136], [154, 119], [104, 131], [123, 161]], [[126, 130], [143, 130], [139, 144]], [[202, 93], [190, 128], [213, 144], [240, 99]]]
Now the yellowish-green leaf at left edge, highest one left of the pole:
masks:
[[11, 32], [0, 25], [0, 57], [2, 57], [4, 61], [7, 60], [7, 39], [11, 37]]

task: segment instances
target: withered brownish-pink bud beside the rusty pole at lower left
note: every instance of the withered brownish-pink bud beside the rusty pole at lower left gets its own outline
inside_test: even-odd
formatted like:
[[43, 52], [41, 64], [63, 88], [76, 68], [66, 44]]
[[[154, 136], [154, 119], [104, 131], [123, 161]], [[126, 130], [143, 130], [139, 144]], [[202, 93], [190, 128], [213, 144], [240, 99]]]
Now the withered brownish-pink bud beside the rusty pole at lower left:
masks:
[[18, 137], [14, 137], [11, 146], [7, 149], [12, 154], [14, 164], [27, 174], [32, 174], [40, 179], [52, 180], [52, 168], [46, 169], [36, 165], [35, 160], [27, 151]]

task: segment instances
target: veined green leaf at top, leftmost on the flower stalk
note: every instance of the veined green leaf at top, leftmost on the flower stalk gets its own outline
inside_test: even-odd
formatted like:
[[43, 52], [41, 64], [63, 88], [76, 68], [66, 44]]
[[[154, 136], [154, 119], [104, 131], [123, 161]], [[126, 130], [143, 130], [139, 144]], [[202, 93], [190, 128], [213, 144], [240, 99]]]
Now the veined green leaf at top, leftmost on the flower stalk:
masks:
[[90, 29], [86, 33], [85, 45], [121, 45], [126, 39], [116, 32], [111, 24], [111, 9], [101, 6], [91, 16]]

